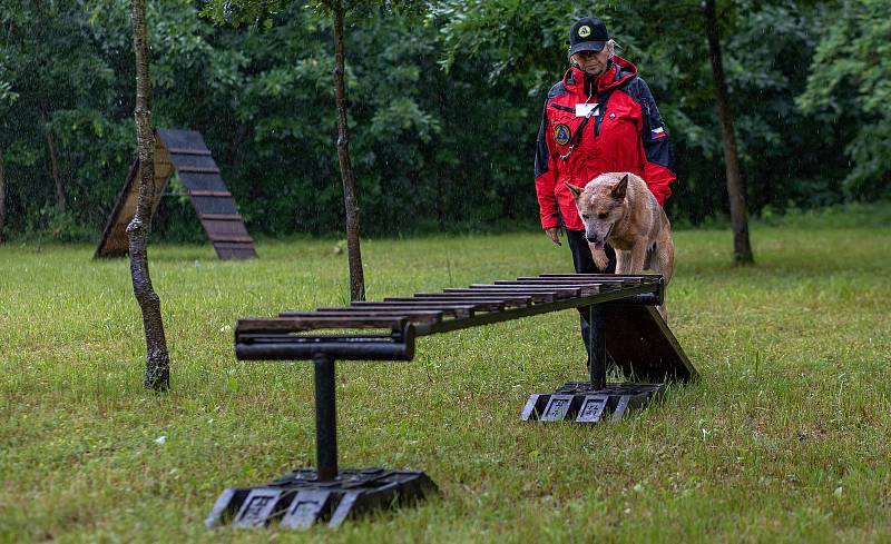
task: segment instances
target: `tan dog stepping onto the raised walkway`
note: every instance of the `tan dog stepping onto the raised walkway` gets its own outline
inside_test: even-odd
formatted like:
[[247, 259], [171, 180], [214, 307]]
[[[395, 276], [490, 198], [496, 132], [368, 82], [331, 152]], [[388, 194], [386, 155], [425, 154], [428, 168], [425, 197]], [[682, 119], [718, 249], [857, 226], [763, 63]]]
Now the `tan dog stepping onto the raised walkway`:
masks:
[[[646, 181], [634, 174], [610, 172], [584, 188], [564, 184], [576, 200], [597, 268], [609, 264], [604, 253], [609, 243], [616, 249], [616, 274], [642, 274], [649, 268], [662, 274], [668, 287], [675, 268], [672, 225]], [[667, 323], [665, 305], [658, 310]]]

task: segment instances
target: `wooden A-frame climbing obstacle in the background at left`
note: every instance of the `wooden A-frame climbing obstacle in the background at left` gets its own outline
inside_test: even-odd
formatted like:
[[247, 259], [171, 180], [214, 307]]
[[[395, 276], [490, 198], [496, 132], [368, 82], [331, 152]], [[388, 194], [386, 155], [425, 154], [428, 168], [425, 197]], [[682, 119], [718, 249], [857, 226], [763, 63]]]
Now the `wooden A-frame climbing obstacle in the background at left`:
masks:
[[[155, 208], [176, 171], [198, 214], [210, 244], [221, 259], [249, 259], [257, 256], [235, 208], [232, 192], [219, 176], [204, 138], [193, 130], [158, 129], [155, 132]], [[127, 225], [136, 214], [139, 194], [139, 160], [134, 161], [127, 182], [108, 217], [95, 257], [123, 257], [129, 251]]]

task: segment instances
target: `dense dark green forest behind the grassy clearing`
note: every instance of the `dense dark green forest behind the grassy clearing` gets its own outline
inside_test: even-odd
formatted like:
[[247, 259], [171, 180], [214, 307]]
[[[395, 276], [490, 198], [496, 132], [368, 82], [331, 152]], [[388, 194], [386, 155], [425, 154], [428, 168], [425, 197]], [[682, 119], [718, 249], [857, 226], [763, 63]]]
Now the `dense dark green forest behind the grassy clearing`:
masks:
[[[722, 222], [698, 2], [424, 2], [347, 24], [362, 233], [536, 228], [532, 157], [572, 20], [603, 18], [675, 146], [676, 225]], [[251, 31], [148, 2], [155, 123], [200, 131], [252, 234], [337, 235], [333, 29], [287, 2]], [[750, 211], [891, 196], [891, 0], [718, 2]], [[347, 21], [349, 22], [349, 21]], [[0, 234], [98, 239], [135, 158], [127, 0], [0, 0]], [[173, 187], [170, 192], [183, 192]], [[202, 239], [186, 197], [155, 231]]]

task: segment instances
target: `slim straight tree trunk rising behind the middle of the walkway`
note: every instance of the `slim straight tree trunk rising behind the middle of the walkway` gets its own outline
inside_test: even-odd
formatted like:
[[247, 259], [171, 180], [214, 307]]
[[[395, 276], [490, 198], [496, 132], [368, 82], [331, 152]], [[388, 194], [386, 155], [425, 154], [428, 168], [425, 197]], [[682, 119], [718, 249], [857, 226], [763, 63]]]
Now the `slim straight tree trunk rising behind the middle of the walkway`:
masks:
[[343, 2], [334, 4], [334, 101], [337, 107], [337, 158], [343, 179], [343, 205], [346, 209], [346, 254], [350, 261], [350, 299], [365, 299], [362, 251], [359, 248], [359, 205], [355, 199], [353, 166], [350, 162], [350, 136], [346, 127], [346, 88], [344, 86]]

